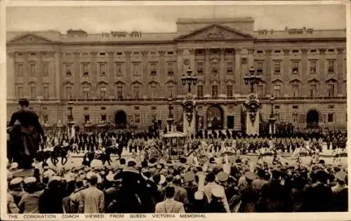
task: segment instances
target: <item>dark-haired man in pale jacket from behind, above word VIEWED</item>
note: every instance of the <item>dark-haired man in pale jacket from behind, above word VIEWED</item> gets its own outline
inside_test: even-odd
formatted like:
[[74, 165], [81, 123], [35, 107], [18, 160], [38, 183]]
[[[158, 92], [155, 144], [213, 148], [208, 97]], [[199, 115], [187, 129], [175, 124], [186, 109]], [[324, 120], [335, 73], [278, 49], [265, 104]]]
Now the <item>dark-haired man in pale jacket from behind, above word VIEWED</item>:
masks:
[[91, 175], [88, 177], [89, 187], [81, 190], [79, 194], [79, 213], [104, 213], [105, 196], [104, 193], [96, 187], [98, 177]]

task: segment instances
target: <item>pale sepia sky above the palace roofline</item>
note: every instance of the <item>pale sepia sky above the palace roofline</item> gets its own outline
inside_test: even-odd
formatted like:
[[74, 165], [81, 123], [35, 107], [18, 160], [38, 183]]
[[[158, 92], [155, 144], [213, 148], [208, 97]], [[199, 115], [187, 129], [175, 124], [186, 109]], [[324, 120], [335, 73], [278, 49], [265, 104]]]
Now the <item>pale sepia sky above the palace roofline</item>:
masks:
[[176, 32], [178, 18], [255, 19], [254, 29], [343, 29], [342, 5], [234, 5], [234, 6], [12, 6], [7, 8], [8, 31], [84, 29], [110, 31]]

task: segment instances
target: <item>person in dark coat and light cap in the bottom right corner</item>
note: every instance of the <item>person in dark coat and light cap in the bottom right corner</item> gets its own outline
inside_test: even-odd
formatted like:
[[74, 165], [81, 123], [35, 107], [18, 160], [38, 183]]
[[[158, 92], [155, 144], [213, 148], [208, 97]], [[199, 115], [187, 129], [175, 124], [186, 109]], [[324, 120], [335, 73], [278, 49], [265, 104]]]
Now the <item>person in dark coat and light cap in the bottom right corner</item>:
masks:
[[333, 211], [347, 212], [348, 210], [348, 189], [345, 185], [347, 180], [347, 173], [340, 170], [336, 173], [336, 185], [331, 187], [333, 192]]

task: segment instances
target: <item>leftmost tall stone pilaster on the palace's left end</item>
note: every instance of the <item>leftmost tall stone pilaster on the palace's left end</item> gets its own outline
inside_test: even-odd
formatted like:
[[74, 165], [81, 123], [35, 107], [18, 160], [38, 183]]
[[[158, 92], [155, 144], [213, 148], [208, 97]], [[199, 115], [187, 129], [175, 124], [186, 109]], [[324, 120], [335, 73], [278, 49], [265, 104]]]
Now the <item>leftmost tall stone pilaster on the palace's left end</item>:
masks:
[[[23, 69], [23, 68], [22, 68]], [[15, 87], [15, 77], [16, 77], [16, 66], [15, 66], [15, 53], [8, 53], [7, 57], [7, 74], [6, 74], [6, 98], [15, 99], [16, 98], [16, 87]]]

